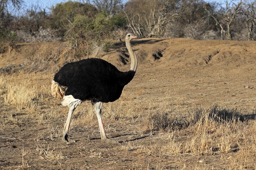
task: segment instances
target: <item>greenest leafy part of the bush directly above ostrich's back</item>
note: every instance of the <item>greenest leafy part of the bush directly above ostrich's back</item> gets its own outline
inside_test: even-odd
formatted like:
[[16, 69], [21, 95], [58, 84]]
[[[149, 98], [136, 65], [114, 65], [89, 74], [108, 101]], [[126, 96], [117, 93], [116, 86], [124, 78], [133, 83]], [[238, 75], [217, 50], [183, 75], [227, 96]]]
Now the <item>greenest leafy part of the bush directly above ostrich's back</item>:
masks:
[[67, 25], [65, 37], [76, 48], [76, 57], [90, 55], [93, 49], [101, 47], [102, 51], [108, 52], [113, 46], [110, 37], [113, 37], [112, 31], [119, 22], [119, 17], [109, 16], [100, 12], [94, 18], [78, 14], [74, 17], [73, 23]]

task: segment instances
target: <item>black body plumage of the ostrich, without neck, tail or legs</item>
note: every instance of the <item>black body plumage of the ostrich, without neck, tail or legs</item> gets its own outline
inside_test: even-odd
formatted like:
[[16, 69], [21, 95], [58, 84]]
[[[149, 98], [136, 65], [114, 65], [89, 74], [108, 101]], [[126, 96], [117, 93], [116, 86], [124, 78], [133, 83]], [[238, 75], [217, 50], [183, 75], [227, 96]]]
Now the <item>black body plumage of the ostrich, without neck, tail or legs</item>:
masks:
[[75, 99], [93, 99], [93, 102], [113, 102], [135, 75], [122, 72], [103, 59], [83, 59], [67, 63], [54, 76], [54, 81], [67, 86], [65, 95]]

